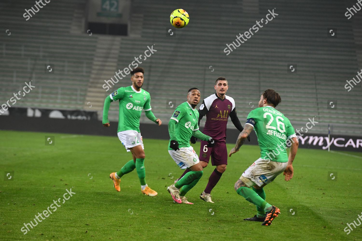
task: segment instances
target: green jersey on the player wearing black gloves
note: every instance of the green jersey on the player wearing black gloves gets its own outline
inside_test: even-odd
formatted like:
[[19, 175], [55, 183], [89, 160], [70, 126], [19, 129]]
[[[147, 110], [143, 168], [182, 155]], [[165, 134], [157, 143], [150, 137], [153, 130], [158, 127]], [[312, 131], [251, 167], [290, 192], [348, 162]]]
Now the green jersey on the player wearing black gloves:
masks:
[[[170, 119], [177, 122], [175, 125], [175, 135], [178, 147], [190, 147], [190, 138], [193, 132], [199, 129], [197, 124], [199, 111], [197, 108], [193, 109], [188, 102], [184, 102], [176, 108]], [[172, 150], [170, 142], [168, 143], [168, 150]]]

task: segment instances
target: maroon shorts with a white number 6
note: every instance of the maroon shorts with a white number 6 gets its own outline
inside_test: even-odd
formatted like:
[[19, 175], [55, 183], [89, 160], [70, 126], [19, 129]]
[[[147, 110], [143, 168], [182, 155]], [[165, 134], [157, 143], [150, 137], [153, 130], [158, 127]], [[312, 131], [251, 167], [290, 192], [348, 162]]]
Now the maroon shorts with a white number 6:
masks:
[[225, 142], [215, 142], [214, 147], [207, 147], [207, 141], [201, 141], [199, 160], [209, 163], [211, 155], [211, 164], [227, 165], [227, 149]]

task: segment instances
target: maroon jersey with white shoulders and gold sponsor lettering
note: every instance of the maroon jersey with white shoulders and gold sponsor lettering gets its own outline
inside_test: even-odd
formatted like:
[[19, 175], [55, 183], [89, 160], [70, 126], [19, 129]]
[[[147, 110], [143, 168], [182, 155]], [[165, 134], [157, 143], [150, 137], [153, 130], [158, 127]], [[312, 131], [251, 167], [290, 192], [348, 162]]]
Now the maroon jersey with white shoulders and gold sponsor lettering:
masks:
[[[231, 112], [233, 112], [231, 114]], [[214, 138], [215, 141], [226, 141], [226, 125], [229, 115], [236, 116], [235, 101], [230, 96], [225, 95], [220, 99], [215, 94], [203, 100], [199, 109], [200, 117], [206, 115], [206, 123], [202, 133]]]

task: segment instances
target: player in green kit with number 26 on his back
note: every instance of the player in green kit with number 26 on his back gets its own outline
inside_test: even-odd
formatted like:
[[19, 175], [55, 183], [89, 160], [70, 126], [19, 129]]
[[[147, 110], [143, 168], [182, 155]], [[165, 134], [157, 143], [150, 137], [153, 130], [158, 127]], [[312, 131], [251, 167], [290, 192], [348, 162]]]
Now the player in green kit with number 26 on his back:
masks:
[[[261, 156], [245, 170], [234, 188], [237, 194], [253, 203], [257, 209], [257, 215], [244, 220], [261, 221], [261, 225], [265, 226], [271, 224], [271, 221], [280, 214], [280, 210], [265, 201], [263, 187], [274, 181], [281, 173], [285, 175], [285, 181], [293, 177], [292, 163], [298, 150], [298, 138], [293, 126], [287, 117], [275, 109], [280, 102], [280, 95], [274, 90], [263, 92], [259, 108], [249, 113], [244, 130], [239, 134], [236, 145], [229, 154], [231, 156], [239, 151], [245, 139], [253, 129], [255, 130]], [[290, 147], [289, 157], [287, 147]]]

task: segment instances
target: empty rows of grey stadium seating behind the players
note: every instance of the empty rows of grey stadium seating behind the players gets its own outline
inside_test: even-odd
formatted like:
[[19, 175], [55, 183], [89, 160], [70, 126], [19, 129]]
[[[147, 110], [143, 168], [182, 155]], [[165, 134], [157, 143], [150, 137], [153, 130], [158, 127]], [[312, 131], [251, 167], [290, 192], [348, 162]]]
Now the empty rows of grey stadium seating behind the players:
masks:
[[[168, 105], [170, 101], [184, 102], [190, 87], [198, 87], [204, 98], [214, 93], [216, 78], [224, 76], [230, 86], [227, 94], [235, 99], [241, 122], [257, 106], [263, 90], [275, 89], [282, 97], [278, 109], [295, 128], [305, 126], [308, 118], [315, 117], [319, 124], [312, 133], [328, 133], [330, 124], [335, 134], [362, 134], [362, 107], [358, 105], [362, 100], [362, 83], [350, 92], [344, 87], [346, 80], [355, 77], [362, 68], [361, 39], [355, 35], [353, 40], [358, 24], [336, 17], [345, 12], [343, 1], [307, 0], [288, 4], [289, 1], [280, 0], [274, 5], [267, 0], [258, 4], [252, 1], [220, 4], [216, 0], [184, 3], [182, 7], [190, 14], [190, 23], [184, 29], [174, 29], [169, 24], [168, 16], [173, 9], [165, 7], [164, 2], [132, 1], [136, 31], [132, 32], [131, 22], [130, 36], [102, 40], [113, 43], [109, 49], [117, 52], [116, 62], [113, 57], [104, 60], [106, 68], [101, 74], [93, 74], [94, 69], [101, 68], [95, 60], [101, 37], [88, 36], [79, 27], [77, 31], [74, 24], [74, 16], [84, 10], [85, 0], [51, 2], [56, 8], [49, 4], [29, 21], [22, 17], [22, 9], [31, 7], [28, 1], [0, 3], [0, 12], [14, 13], [9, 18], [0, 16], [0, 21], [6, 23], [4, 26], [12, 30], [11, 36], [0, 35], [0, 47], [6, 53], [0, 66], [1, 102], [25, 81], [33, 79], [42, 91], [35, 90], [35, 95], [29, 95], [19, 105], [86, 109], [85, 103], [91, 100], [96, 102], [92, 110], [99, 111], [101, 117], [102, 99], [131, 83], [123, 79], [106, 92], [100, 87], [104, 79], [113, 77], [115, 71], [128, 66], [135, 56], [154, 44], [157, 52], [141, 66], [146, 70], [144, 89], [151, 93], [152, 110], [164, 121], [174, 109]], [[290, 9], [296, 5], [308, 12], [308, 16], [291, 15]], [[137, 9], [152, 10], [142, 11], [144, 14], [139, 16]], [[273, 9], [278, 16], [229, 55], [223, 52], [236, 35], [248, 31]], [[321, 17], [329, 24], [320, 23]], [[49, 20], [47, 24], [42, 23], [44, 19]], [[305, 25], [306, 21], [310, 24]], [[328, 28], [336, 31], [336, 37], [328, 36]], [[168, 29], [174, 34], [170, 35]], [[54, 74], [43, 72], [45, 63], [55, 64]], [[288, 72], [290, 65], [296, 71]], [[335, 100], [336, 106], [328, 108], [329, 102]], [[118, 119], [117, 104], [111, 105], [109, 118]], [[141, 122], [150, 121], [142, 115]], [[231, 122], [228, 127], [234, 128]]]

